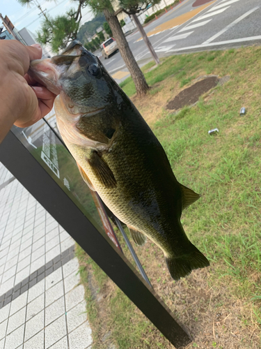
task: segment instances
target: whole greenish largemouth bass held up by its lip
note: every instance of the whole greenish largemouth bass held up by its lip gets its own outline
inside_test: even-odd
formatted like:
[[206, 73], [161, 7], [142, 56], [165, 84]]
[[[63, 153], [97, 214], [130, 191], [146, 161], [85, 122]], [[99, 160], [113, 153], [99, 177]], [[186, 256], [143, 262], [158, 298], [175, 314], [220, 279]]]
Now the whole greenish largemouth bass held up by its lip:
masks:
[[207, 267], [180, 223], [200, 195], [177, 181], [163, 147], [100, 60], [74, 41], [52, 59], [32, 61], [29, 73], [57, 94], [58, 129], [81, 176], [136, 244], [155, 242], [175, 280]]

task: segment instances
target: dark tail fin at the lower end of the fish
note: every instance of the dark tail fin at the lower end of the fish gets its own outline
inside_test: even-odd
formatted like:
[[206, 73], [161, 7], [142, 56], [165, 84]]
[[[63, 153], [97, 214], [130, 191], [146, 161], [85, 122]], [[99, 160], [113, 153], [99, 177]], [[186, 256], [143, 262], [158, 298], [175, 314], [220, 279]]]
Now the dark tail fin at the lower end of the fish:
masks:
[[180, 280], [180, 278], [190, 274], [193, 269], [209, 266], [209, 261], [205, 255], [191, 243], [186, 253], [175, 257], [166, 257], [166, 263], [174, 280]]

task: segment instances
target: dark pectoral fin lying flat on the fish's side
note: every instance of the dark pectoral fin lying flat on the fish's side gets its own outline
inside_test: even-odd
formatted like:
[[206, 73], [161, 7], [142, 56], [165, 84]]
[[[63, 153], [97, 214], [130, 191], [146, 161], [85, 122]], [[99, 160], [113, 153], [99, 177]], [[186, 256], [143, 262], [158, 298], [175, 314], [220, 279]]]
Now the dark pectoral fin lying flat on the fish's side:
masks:
[[104, 184], [106, 188], [116, 188], [117, 182], [113, 172], [97, 151], [93, 150], [91, 152], [88, 163], [99, 181]]

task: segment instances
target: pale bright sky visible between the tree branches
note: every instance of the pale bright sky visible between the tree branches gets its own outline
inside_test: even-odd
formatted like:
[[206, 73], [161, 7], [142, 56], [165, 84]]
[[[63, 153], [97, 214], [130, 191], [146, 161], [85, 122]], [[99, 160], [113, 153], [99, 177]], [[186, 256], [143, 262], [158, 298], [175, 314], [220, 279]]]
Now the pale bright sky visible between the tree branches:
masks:
[[[42, 10], [46, 9], [47, 13], [52, 17], [63, 15], [70, 10], [70, 8], [77, 8], [77, 1], [71, 0], [38, 0], [38, 2], [40, 3]], [[17, 0], [1, 0], [0, 13], [3, 17], [7, 15], [17, 30], [26, 27], [32, 31], [33, 34], [35, 34], [36, 30], [40, 30], [43, 16], [39, 16], [40, 10], [39, 8], [36, 8], [33, 1], [30, 6], [22, 6]], [[84, 24], [93, 18], [93, 13], [90, 8], [86, 7], [82, 10], [82, 16], [81, 24]], [[0, 26], [1, 25], [0, 22]]]

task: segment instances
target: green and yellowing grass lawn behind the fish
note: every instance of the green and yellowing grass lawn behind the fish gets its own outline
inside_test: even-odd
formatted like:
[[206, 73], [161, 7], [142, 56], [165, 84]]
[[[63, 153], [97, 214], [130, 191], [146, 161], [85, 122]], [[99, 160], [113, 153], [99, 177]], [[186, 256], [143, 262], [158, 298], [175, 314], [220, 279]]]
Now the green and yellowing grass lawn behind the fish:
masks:
[[[193, 336], [187, 348], [261, 348], [261, 48], [182, 54], [152, 66], [143, 67], [151, 87], [144, 98], [136, 98], [130, 78], [121, 86], [163, 145], [177, 180], [200, 193], [182, 224], [211, 265], [175, 282], [155, 244], [134, 248], [157, 294]], [[228, 81], [193, 107], [166, 110], [203, 75]], [[209, 135], [212, 128], [219, 133]], [[77, 255], [93, 348], [173, 348], [79, 246]]]

